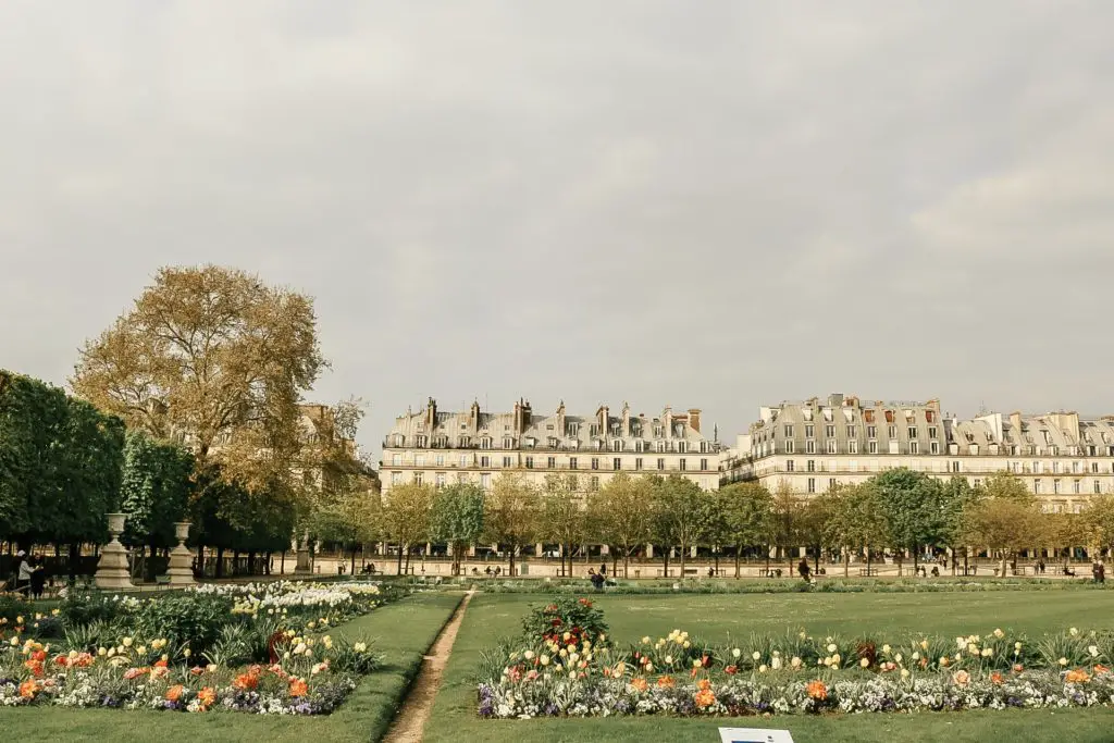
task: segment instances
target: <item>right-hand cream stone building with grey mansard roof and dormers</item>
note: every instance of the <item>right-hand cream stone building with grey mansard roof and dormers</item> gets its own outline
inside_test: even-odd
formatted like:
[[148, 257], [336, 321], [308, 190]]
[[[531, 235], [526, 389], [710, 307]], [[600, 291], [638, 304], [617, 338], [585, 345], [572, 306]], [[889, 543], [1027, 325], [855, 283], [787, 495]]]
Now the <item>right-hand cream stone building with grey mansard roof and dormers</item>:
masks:
[[726, 479], [810, 496], [908, 467], [980, 485], [1009, 471], [1049, 512], [1078, 512], [1088, 496], [1114, 491], [1114, 417], [1075, 412], [941, 416], [939, 401], [870, 402], [833, 394], [761, 409], [750, 458], [737, 452]]

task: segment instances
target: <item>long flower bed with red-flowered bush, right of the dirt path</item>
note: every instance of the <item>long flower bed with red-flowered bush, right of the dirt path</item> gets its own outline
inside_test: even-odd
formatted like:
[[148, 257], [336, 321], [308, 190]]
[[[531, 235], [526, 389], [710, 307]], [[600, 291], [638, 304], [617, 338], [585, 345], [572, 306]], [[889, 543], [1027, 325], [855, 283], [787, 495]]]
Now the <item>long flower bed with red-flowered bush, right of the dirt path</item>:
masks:
[[[580, 626], [592, 623], [589, 630]], [[524, 637], [485, 654], [485, 717], [750, 715], [1114, 705], [1114, 635], [1071, 628], [1030, 642], [995, 629], [880, 642], [754, 635], [713, 645], [676, 629], [607, 644], [587, 599], [557, 599]]]

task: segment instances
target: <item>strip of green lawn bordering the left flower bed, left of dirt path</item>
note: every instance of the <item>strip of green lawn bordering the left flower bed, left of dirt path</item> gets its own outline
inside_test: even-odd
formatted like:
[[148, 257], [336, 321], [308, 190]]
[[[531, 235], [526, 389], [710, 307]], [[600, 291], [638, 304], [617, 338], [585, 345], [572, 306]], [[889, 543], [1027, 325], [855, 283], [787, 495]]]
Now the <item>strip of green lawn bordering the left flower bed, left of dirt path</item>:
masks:
[[384, 667], [364, 677], [336, 713], [322, 717], [187, 714], [127, 710], [28, 707], [0, 710], [0, 730], [10, 741], [290, 741], [378, 740], [421, 665], [421, 656], [462, 598], [421, 594], [342, 625], [335, 635], [370, 636], [385, 656]]

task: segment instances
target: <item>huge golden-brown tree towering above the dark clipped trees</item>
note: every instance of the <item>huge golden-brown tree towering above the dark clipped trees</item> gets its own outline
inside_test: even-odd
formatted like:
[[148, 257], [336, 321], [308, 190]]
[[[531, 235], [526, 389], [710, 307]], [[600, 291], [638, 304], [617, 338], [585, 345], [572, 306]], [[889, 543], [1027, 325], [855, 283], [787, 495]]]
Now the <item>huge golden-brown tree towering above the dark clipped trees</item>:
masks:
[[129, 428], [185, 442], [198, 472], [273, 497], [292, 489], [299, 401], [325, 365], [315, 325], [312, 300], [248, 273], [166, 267], [86, 343], [70, 383]]

